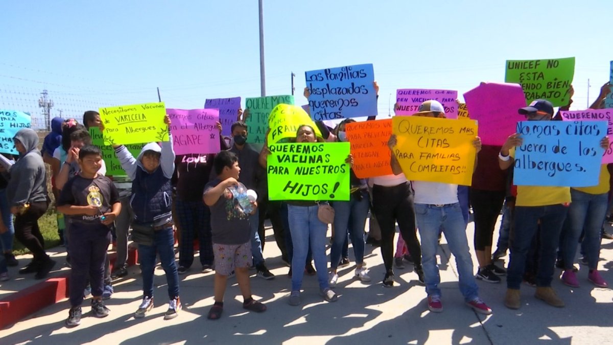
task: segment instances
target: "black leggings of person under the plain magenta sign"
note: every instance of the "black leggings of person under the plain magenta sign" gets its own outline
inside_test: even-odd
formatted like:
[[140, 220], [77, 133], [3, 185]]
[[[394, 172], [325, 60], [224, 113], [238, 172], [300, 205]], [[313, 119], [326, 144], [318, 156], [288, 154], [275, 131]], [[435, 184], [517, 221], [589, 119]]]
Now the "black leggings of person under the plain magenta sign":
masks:
[[504, 191], [470, 190], [470, 203], [474, 217], [474, 249], [492, 247], [494, 227], [504, 202]]

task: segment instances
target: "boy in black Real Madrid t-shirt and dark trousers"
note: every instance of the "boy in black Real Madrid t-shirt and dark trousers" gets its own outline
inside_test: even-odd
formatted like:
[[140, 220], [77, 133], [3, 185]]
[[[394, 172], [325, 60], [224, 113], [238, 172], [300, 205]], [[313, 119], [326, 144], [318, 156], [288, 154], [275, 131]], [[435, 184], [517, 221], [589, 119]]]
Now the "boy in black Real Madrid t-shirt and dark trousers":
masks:
[[110, 226], [121, 211], [119, 194], [108, 177], [98, 174], [102, 152], [93, 145], [78, 153], [81, 171], [72, 177], [59, 195], [58, 212], [70, 219], [70, 311], [66, 325], [81, 321], [83, 289], [91, 284], [91, 311], [96, 317], [109, 315], [102, 301], [104, 263], [111, 240]]

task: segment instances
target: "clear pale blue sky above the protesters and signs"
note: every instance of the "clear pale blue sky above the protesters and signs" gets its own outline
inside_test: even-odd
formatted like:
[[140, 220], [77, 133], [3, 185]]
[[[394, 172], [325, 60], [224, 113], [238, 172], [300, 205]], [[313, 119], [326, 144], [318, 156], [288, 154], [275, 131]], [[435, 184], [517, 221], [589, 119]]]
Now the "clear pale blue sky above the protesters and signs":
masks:
[[[397, 88], [460, 95], [503, 82], [504, 61], [576, 56], [574, 109], [609, 78], [613, 2], [264, 0], [267, 95], [304, 72], [373, 63], [380, 117]], [[37, 116], [157, 100], [193, 109], [206, 98], [260, 95], [257, 0], [2, 1], [0, 107]], [[391, 101], [388, 103], [388, 100]]]

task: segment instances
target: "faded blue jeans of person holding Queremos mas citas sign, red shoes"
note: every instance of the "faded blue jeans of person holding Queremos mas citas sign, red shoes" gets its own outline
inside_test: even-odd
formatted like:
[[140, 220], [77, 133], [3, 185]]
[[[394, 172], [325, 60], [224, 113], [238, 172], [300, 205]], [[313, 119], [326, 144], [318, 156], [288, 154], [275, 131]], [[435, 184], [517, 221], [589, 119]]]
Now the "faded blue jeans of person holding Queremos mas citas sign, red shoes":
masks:
[[438, 233], [442, 228], [449, 250], [455, 256], [460, 276], [460, 292], [466, 301], [478, 297], [479, 287], [474, 281], [473, 259], [468, 251], [466, 223], [460, 204], [447, 204], [441, 207], [415, 204], [415, 215], [421, 236], [422, 267], [428, 296], [441, 295], [441, 289], [438, 287], [441, 276], [436, 265], [436, 250], [438, 249]]

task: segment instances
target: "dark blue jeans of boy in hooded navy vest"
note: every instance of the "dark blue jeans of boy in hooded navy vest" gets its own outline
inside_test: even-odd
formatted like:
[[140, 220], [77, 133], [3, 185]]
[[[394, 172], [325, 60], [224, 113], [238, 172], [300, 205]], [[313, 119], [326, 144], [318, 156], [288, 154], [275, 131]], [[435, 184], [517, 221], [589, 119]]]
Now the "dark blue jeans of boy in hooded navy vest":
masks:
[[155, 269], [156, 256], [162, 262], [162, 268], [166, 272], [168, 284], [168, 297], [172, 300], [179, 295], [179, 274], [175, 265], [175, 252], [173, 250], [175, 238], [172, 228], [157, 230], [153, 237], [153, 246], [139, 244], [140, 271], [143, 274], [143, 295], [153, 297], [153, 270]]

